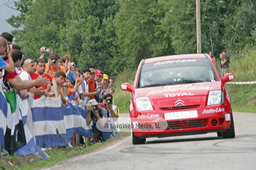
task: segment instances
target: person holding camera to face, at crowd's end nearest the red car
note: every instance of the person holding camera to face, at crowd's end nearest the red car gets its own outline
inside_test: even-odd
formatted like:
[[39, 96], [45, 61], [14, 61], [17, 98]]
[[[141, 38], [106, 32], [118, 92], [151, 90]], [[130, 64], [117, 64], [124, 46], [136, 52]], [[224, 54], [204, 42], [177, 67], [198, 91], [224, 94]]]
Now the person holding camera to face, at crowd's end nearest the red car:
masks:
[[[109, 114], [109, 120], [111, 123], [116, 124], [119, 118], [119, 108], [113, 104], [113, 96], [112, 94], [106, 94], [103, 98], [102, 104], [107, 107], [107, 111]], [[117, 127], [117, 126], [116, 126]], [[117, 137], [118, 128], [112, 132], [111, 137]]]

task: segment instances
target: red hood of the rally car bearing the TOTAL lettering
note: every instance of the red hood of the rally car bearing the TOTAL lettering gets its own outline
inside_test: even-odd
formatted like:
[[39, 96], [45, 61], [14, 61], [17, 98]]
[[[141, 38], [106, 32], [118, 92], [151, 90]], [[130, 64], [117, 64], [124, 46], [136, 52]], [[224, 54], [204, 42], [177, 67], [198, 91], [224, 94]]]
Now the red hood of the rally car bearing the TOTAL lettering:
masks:
[[207, 96], [209, 91], [220, 90], [221, 81], [203, 82], [195, 84], [178, 84], [172, 86], [155, 86], [134, 89], [134, 96], [148, 96], [151, 101], [163, 98], [183, 98], [195, 96]]

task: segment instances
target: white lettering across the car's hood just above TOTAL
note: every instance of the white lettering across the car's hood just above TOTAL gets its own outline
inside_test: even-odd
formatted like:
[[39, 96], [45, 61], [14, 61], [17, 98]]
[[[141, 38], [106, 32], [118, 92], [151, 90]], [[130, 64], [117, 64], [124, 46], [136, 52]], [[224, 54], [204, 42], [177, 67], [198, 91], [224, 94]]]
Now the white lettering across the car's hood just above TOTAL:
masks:
[[163, 93], [168, 93], [171, 91], [189, 91], [189, 90], [211, 90], [213, 89], [210, 86], [191, 86], [191, 87], [181, 87], [181, 88], [170, 88], [170, 89], [161, 89], [161, 90], [153, 90], [150, 91], [149, 94], [147, 94], [146, 96], [149, 96], [151, 94], [163, 94]]

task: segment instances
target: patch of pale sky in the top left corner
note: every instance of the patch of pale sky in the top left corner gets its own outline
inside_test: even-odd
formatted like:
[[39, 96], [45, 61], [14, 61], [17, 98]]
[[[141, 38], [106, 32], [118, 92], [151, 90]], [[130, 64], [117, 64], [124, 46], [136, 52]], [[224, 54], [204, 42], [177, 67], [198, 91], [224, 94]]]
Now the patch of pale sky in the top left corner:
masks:
[[12, 15], [17, 16], [19, 11], [16, 11], [8, 6], [4, 5], [4, 2], [11, 2], [14, 0], [0, 0], [0, 34], [3, 32], [11, 33], [11, 30], [14, 30], [12, 26], [7, 23], [6, 19], [10, 18]]

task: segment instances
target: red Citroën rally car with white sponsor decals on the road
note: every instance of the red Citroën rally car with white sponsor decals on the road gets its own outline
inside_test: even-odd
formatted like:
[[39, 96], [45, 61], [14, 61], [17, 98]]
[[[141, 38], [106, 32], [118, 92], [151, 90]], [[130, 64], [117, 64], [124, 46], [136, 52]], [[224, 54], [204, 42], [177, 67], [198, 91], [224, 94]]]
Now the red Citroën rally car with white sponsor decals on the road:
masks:
[[130, 91], [129, 114], [132, 143], [144, 144], [147, 137], [217, 132], [235, 137], [233, 113], [225, 83], [206, 54], [172, 55], [142, 60], [134, 84], [121, 85]]

